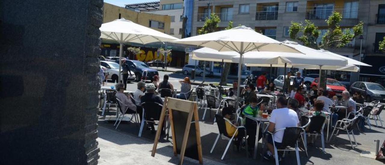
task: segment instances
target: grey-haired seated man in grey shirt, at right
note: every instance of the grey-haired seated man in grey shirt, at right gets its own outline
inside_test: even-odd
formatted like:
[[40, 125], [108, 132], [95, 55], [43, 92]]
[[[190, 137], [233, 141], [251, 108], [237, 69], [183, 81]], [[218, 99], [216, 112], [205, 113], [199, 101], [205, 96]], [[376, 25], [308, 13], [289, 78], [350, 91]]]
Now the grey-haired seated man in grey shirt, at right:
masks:
[[332, 116], [332, 125], [334, 126], [337, 122], [337, 120], [342, 120], [344, 118], [351, 118], [351, 116], [345, 116], [347, 114], [349, 114], [350, 112], [356, 112], [356, 102], [350, 98], [350, 93], [348, 91], [343, 91], [342, 92], [342, 98], [343, 98], [343, 103], [342, 105], [345, 106], [345, 107], [348, 107], [346, 110], [347, 112], [345, 111], [345, 109], [339, 109], [336, 113], [333, 113], [333, 116]]

